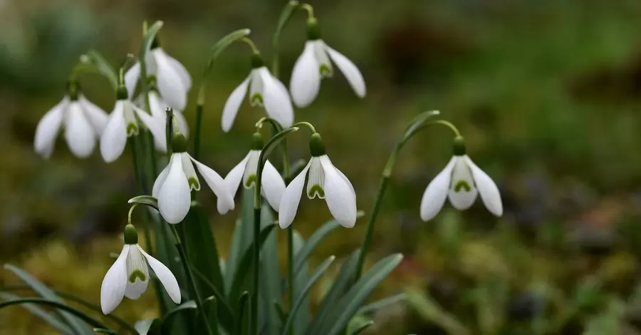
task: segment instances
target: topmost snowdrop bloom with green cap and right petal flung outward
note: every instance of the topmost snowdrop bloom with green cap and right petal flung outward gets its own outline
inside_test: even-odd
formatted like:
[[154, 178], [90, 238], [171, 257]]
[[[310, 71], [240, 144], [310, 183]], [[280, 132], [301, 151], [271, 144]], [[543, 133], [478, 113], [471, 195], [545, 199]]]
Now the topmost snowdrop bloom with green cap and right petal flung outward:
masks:
[[301, 56], [294, 64], [289, 82], [291, 98], [298, 107], [306, 107], [318, 95], [320, 80], [333, 75], [332, 63], [347, 78], [354, 93], [359, 98], [365, 96], [365, 81], [358, 68], [342, 53], [335, 51], [320, 39], [318, 23], [315, 18], [307, 21], [307, 42]]

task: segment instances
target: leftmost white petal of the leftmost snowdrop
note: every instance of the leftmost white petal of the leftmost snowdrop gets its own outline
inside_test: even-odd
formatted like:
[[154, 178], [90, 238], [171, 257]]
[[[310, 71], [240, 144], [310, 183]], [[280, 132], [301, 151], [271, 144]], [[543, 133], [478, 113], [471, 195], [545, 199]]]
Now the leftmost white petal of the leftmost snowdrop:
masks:
[[33, 139], [33, 149], [43, 158], [50, 158], [53, 153], [53, 146], [56, 144], [56, 136], [62, 126], [65, 109], [68, 107], [69, 98], [65, 97], [57, 105], [53, 106], [38, 122], [36, 136]]

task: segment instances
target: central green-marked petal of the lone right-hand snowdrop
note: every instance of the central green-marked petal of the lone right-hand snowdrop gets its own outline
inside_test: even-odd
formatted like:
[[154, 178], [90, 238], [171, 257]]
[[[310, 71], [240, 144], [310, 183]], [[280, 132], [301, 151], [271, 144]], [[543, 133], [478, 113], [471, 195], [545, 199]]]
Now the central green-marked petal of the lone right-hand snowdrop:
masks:
[[479, 191], [474, 186], [474, 178], [462, 156], [454, 157], [452, 181], [449, 185], [449, 202], [457, 210], [467, 210], [474, 204]]

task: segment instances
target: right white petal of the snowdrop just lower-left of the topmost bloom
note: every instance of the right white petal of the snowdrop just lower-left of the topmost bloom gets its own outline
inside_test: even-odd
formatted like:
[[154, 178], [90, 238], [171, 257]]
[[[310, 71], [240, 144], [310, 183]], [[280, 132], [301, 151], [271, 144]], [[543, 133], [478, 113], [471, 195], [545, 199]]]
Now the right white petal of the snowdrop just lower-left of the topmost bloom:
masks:
[[278, 79], [271, 76], [267, 68], [261, 68], [261, 78], [264, 83], [263, 102], [267, 115], [278, 121], [283, 128], [293, 124], [293, 107], [289, 100], [287, 88]]

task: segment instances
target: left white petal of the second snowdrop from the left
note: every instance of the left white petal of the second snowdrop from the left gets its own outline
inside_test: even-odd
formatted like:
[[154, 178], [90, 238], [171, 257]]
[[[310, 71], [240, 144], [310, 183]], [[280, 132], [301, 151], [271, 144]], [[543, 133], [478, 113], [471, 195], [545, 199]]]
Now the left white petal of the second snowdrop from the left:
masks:
[[100, 136], [100, 155], [103, 160], [111, 163], [123, 154], [127, 145], [127, 124], [125, 123], [125, 103], [116, 101], [113, 112], [109, 115], [107, 126]]

